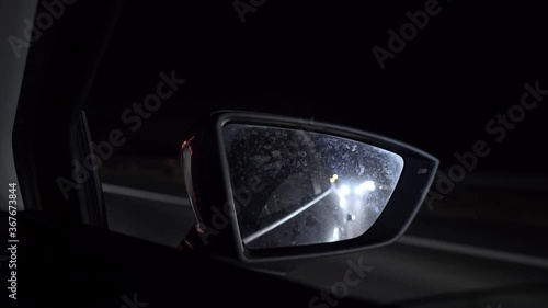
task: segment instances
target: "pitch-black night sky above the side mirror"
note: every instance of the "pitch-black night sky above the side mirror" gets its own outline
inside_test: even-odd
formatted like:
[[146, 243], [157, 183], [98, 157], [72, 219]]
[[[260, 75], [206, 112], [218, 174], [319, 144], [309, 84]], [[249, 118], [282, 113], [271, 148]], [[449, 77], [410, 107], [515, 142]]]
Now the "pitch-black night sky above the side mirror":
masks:
[[[189, 125], [218, 109], [333, 122], [386, 135], [455, 162], [486, 139], [479, 168], [537, 172], [548, 96], [496, 144], [486, 124], [520, 103], [523, 83], [548, 89], [546, 13], [520, 2], [439, 1], [442, 11], [381, 70], [372, 52], [427, 1], [274, 1], [246, 15], [232, 1], [126, 1], [88, 110], [95, 140], [161, 71], [187, 82], [118, 153], [176, 155]], [[153, 4], [152, 4], [153, 3]], [[541, 166], [541, 168], [546, 167]]]

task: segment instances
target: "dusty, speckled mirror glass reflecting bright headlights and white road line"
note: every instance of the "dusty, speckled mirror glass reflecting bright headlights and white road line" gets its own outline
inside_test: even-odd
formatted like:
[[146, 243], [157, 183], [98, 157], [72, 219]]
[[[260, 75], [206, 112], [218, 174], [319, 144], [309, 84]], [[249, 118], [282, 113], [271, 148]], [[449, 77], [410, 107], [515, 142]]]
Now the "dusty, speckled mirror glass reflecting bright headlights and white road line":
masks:
[[363, 235], [403, 169], [399, 155], [306, 129], [228, 124], [222, 138], [238, 225], [250, 249]]

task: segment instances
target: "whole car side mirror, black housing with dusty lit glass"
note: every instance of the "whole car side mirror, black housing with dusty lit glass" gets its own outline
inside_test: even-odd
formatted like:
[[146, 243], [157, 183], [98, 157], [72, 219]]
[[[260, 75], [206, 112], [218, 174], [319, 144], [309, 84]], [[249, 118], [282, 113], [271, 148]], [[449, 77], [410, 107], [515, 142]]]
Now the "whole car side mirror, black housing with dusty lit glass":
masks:
[[182, 146], [194, 246], [243, 262], [397, 240], [438, 161], [374, 134], [284, 116], [218, 112]]

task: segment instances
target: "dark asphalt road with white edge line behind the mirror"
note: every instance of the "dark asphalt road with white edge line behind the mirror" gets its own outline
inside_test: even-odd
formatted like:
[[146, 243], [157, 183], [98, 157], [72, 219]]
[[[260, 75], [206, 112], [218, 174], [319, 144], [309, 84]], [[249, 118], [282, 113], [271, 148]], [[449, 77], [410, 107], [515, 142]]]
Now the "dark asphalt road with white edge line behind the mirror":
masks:
[[[103, 184], [110, 228], [176, 246], [194, 221], [184, 191], [173, 181], [171, 185], [119, 182], [132, 185]], [[548, 251], [527, 237], [530, 228], [479, 221], [482, 224], [420, 214], [391, 246], [309, 260], [286, 277], [330, 288], [343, 281], [349, 260], [362, 259], [373, 271], [349, 289], [350, 296], [378, 303], [548, 284]]]

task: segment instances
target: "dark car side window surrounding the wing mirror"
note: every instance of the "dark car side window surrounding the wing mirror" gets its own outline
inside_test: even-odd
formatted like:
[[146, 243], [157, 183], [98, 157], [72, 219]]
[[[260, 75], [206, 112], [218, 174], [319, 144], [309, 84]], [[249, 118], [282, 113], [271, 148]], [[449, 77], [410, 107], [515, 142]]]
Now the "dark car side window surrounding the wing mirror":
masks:
[[441, 160], [398, 242], [286, 278], [336, 288], [362, 264], [346, 294], [384, 304], [546, 283], [545, 13], [454, 2], [126, 3], [85, 106], [110, 228], [176, 246], [195, 223], [179, 162], [190, 128], [217, 110], [267, 112]]

